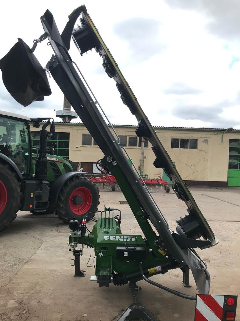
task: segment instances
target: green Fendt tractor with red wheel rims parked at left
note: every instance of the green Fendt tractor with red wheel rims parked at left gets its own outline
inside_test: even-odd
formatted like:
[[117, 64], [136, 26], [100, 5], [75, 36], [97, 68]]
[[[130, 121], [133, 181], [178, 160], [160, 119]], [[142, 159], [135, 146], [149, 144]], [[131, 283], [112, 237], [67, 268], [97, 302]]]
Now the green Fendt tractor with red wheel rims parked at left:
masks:
[[[55, 139], [52, 118], [28, 118], [0, 111], [0, 230], [16, 218], [17, 212], [55, 212], [68, 222], [96, 212], [99, 191], [74, 162], [54, 155], [54, 143], [47, 149], [47, 137]], [[32, 146], [29, 122], [40, 130], [39, 151]], [[46, 128], [50, 125], [50, 135]], [[94, 213], [89, 214], [89, 219]]]

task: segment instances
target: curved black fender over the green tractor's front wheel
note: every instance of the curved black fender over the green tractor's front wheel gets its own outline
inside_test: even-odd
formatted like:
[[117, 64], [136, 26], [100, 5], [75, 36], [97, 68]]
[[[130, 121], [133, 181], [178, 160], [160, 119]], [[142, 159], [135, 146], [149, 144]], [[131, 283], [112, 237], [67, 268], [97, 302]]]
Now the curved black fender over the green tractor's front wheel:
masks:
[[87, 172], [69, 172], [69, 173], [62, 174], [59, 178], [57, 178], [50, 186], [49, 207], [50, 208], [56, 207], [58, 202], [59, 192], [69, 178], [72, 178], [73, 176], [83, 176], [84, 174], [87, 174]]

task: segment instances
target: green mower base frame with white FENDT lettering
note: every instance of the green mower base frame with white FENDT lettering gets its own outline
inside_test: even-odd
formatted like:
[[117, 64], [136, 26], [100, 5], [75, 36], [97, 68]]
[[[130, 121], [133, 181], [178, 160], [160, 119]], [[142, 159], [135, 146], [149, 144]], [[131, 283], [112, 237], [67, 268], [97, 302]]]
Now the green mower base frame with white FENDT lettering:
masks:
[[[115, 285], [121, 285], [117, 283], [120, 281], [124, 284], [131, 279], [129, 274], [139, 272], [138, 262], [142, 262], [143, 268], [148, 269], [150, 271], [148, 274], [151, 275], [167, 272], [166, 267], [177, 267], [174, 260], [171, 262], [168, 259], [163, 246], [159, 247], [156, 244], [153, 250], [150, 250], [147, 240], [141, 235], [122, 234], [119, 218], [114, 217], [114, 212], [101, 212], [100, 219], [93, 226], [92, 232], [87, 232], [84, 236], [81, 234], [81, 231], [74, 231], [69, 237], [73, 254], [75, 255], [78, 244], [94, 248], [96, 275], [101, 280], [100, 286], [109, 286], [112, 278]], [[154, 269], [156, 266], [158, 268]], [[118, 276], [113, 271], [118, 273]], [[140, 280], [140, 274], [134, 278]]]

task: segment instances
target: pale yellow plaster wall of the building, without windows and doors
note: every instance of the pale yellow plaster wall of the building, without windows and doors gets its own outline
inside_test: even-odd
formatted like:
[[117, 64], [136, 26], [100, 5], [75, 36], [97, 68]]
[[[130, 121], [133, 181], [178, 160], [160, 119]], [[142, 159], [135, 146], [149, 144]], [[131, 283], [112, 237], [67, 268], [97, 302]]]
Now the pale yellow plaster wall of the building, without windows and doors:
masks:
[[[31, 128], [37, 131], [38, 128]], [[48, 129], [50, 130], [50, 129]], [[135, 126], [115, 126], [118, 135], [136, 136]], [[226, 185], [228, 180], [228, 146], [229, 138], [240, 139], [240, 132], [225, 133], [223, 143], [221, 142], [221, 131], [207, 130], [184, 130], [184, 129], [164, 129], [156, 128], [157, 136], [164, 145], [168, 154], [183, 180], [189, 185], [191, 182], [207, 185]], [[85, 126], [81, 124], [61, 124], [56, 123], [57, 132], [70, 133], [69, 159], [75, 162], [97, 162], [104, 155], [98, 146], [83, 146], [82, 135], [89, 134]], [[197, 149], [171, 148], [172, 138], [193, 138], [197, 139]], [[92, 143], [93, 144], [93, 143]], [[132, 161], [138, 168], [140, 165], [140, 147], [126, 147]], [[149, 178], [156, 178], [162, 169], [153, 166], [155, 160], [151, 150], [151, 144], [145, 148], [144, 173]]]

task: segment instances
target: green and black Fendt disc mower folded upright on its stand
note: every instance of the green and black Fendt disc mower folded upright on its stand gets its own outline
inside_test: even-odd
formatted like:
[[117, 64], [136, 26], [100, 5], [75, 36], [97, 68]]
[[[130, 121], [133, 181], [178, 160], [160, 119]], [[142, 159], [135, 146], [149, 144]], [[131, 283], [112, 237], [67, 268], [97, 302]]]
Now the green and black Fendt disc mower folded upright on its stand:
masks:
[[[80, 26], [75, 27], [80, 15]], [[75, 275], [85, 275], [85, 272], [80, 269], [80, 256], [83, 254], [83, 246], [87, 245], [94, 249], [96, 255], [95, 277], [91, 278], [96, 280], [100, 287], [109, 287], [110, 283], [120, 286], [130, 282], [134, 294], [137, 289], [136, 282], [145, 280], [182, 298], [196, 300], [196, 296], [189, 296], [169, 289], [149, 278], [152, 275], [164, 274], [171, 269], [178, 268], [183, 272], [185, 286], [189, 285], [189, 270], [191, 270], [198, 292], [207, 296], [210, 290], [210, 275], [207, 266], [197, 254], [195, 248], [204, 250], [204, 248], [215, 246], [219, 240], [215, 237], [188, 187], [157, 137], [116, 61], [100, 37], [86, 7], [84, 5], [78, 7], [68, 18], [69, 20], [60, 35], [53, 15], [49, 10], [41, 17], [44, 37], [47, 37], [48, 44], [52, 46], [54, 51], [46, 69], [51, 73], [104, 153], [99, 165], [106, 171], [107, 175], [116, 178], [144, 235], [143, 237], [141, 235], [122, 234], [120, 229], [122, 213], [109, 207], [105, 207], [102, 211], [94, 211], [94, 213], [100, 213], [100, 218], [98, 220], [91, 218], [95, 221], [92, 231], [88, 231], [86, 226], [87, 218], [93, 214], [91, 210], [84, 215], [83, 220], [78, 221], [76, 218], [71, 220], [69, 227], [72, 232], [69, 243], [70, 250], [75, 256]], [[154, 201], [148, 187], [141, 181], [136, 166], [133, 164], [132, 168], [129, 164], [130, 156], [124, 147], [119, 145], [119, 137], [110, 124], [116, 137], [112, 134], [102, 116], [104, 111], [99, 102], [96, 99], [96, 101], [93, 101], [88, 84], [85, 80], [83, 81], [84, 78], [80, 69], [69, 55], [71, 38], [73, 38], [81, 55], [95, 48], [102, 57], [101, 64], [108, 76], [116, 82], [121, 100], [138, 120], [136, 135], [151, 143], [156, 156], [154, 166], [164, 169], [172, 181], [173, 192], [186, 204], [186, 215], [176, 221], [175, 231], [170, 230], [168, 222]], [[33, 50], [35, 48], [36, 43]], [[15, 72], [17, 72], [17, 69], [16, 66]], [[93, 94], [92, 91], [91, 94]], [[26, 97], [23, 96], [22, 102], [20, 102], [22, 104], [31, 99], [28, 91], [25, 95]], [[108, 118], [107, 121], [109, 122]], [[80, 249], [76, 248], [78, 244], [82, 245]], [[133, 297], [135, 298], [134, 304], [124, 312], [119, 320], [128, 320], [130, 314], [132, 317], [133, 314], [136, 316], [138, 313], [138, 315], [145, 313], [145, 317], [154, 320], [150, 314], [146, 315], [147, 312], [141, 305], [136, 303], [136, 296], [133, 295]], [[222, 320], [225, 319], [222, 316]]]

